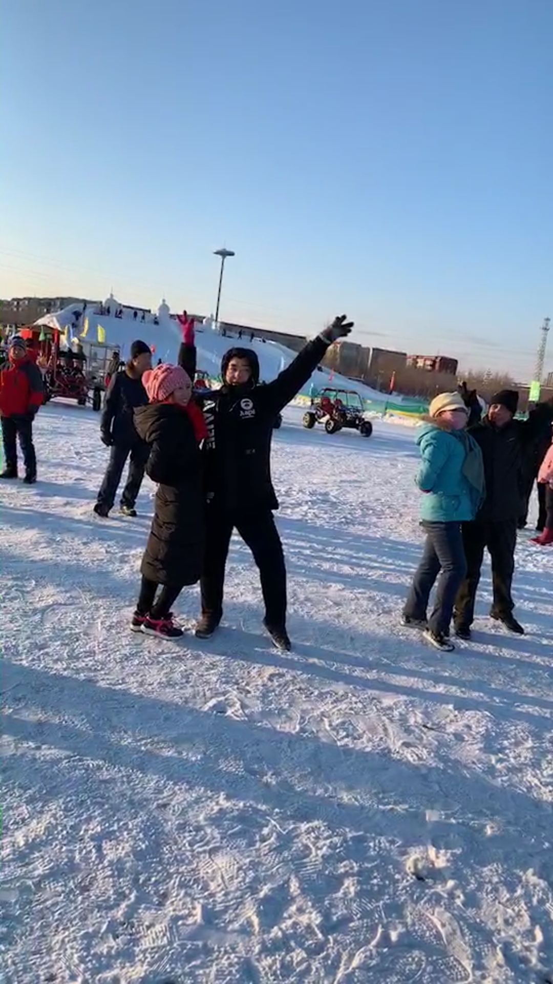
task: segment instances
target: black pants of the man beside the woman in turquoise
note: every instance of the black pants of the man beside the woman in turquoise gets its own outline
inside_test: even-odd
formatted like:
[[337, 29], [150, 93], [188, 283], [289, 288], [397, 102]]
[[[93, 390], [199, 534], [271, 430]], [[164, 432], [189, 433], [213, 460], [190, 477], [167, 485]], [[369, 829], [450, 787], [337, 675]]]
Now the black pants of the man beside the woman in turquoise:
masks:
[[502, 618], [513, 611], [515, 604], [511, 587], [515, 573], [517, 525], [517, 520], [505, 520], [503, 523], [462, 524], [466, 578], [461, 584], [455, 605], [455, 620], [459, 625], [468, 627], [474, 621], [474, 602], [486, 547], [492, 562], [491, 613]]

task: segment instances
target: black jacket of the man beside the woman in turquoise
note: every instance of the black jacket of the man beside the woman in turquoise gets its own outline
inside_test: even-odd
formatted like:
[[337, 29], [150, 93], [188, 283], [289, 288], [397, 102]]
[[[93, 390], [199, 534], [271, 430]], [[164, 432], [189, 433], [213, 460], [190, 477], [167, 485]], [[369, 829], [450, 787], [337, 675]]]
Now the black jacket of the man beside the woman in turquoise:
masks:
[[512, 420], [494, 427], [488, 417], [469, 428], [482, 451], [486, 498], [477, 519], [491, 523], [520, 520], [526, 504], [527, 455], [543, 429], [553, 419], [553, 404], [538, 403], [527, 420]]

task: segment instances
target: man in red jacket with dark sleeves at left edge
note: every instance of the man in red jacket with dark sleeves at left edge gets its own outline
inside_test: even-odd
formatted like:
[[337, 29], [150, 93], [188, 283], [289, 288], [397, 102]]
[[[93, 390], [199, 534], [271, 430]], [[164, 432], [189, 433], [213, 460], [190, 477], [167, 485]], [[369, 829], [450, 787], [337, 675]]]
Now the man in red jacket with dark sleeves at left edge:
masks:
[[0, 415], [5, 468], [0, 478], [18, 477], [17, 438], [25, 462], [26, 485], [36, 481], [36, 455], [32, 444], [32, 421], [44, 399], [42, 376], [31, 359], [24, 338], [12, 338], [8, 368], [0, 372]]

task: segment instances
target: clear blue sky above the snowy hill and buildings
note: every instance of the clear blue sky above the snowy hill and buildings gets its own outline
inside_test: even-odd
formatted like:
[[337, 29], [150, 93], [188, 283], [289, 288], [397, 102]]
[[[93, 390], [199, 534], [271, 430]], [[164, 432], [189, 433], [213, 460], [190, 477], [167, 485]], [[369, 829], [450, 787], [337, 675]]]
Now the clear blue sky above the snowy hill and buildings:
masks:
[[531, 375], [553, 0], [2, 8], [0, 296], [210, 313], [226, 245], [221, 318]]

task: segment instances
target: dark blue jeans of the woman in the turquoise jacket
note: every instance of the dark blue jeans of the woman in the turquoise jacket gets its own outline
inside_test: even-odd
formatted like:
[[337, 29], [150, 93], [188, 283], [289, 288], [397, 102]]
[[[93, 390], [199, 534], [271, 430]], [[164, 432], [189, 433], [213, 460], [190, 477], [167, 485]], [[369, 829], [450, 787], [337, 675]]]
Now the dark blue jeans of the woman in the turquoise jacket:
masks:
[[466, 574], [461, 523], [422, 523], [422, 527], [426, 531], [424, 552], [403, 614], [424, 621], [430, 592], [440, 575], [428, 626], [432, 632], [444, 634], [450, 628], [456, 595]]

